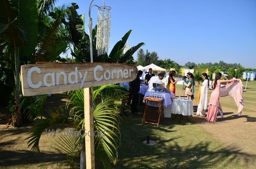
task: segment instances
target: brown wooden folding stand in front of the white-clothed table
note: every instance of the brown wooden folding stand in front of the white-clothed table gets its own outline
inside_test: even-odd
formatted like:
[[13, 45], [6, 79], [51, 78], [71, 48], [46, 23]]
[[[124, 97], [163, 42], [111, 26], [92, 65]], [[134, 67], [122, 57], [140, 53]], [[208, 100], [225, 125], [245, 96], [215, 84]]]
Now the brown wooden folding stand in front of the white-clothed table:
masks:
[[[158, 99], [158, 98], [153, 98], [153, 97], [146, 97], [146, 98], [143, 98], [143, 100], [145, 100], [145, 105], [144, 105], [144, 115], [143, 115], [143, 119], [142, 119], [142, 125], [143, 123], [150, 123], [150, 124], [156, 124], [159, 126], [159, 123], [160, 121], [163, 120], [163, 99]], [[152, 113], [150, 112], [154, 112], [153, 109], [155, 107], [151, 107], [151, 110], [148, 109], [148, 101], [150, 102], [154, 102], [154, 103], [157, 103], [158, 104], [158, 107], [156, 108], [156, 117], [151, 117], [150, 118], [150, 115], [152, 116]]]

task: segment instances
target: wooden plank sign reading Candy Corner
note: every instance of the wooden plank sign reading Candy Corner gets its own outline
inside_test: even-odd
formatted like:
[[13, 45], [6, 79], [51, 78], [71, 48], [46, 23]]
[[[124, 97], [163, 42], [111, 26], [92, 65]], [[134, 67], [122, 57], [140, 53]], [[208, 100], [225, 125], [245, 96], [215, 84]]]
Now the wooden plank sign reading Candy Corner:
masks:
[[34, 96], [130, 82], [136, 73], [137, 67], [127, 64], [39, 62], [21, 66], [22, 93]]

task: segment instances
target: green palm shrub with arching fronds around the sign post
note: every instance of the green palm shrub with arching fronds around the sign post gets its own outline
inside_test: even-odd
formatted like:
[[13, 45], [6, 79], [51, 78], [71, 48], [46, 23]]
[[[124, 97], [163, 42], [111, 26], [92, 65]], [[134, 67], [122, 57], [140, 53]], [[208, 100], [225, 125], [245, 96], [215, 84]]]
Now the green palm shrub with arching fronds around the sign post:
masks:
[[[96, 150], [96, 158], [101, 160], [105, 168], [110, 167], [110, 163], [116, 163], [118, 158], [117, 148], [120, 141], [119, 129], [119, 112], [122, 108], [121, 98], [127, 92], [121, 90], [118, 85], [108, 84], [100, 87], [95, 87], [93, 91], [93, 117], [94, 131], [101, 133], [95, 137], [94, 144]], [[56, 129], [59, 124], [72, 127], [80, 133], [84, 131], [84, 92], [83, 90], [75, 90], [68, 92], [70, 102], [67, 103], [69, 112], [60, 108], [51, 113], [48, 119], [38, 120], [32, 133], [27, 138], [28, 146], [34, 151], [40, 151], [39, 140], [42, 133], [49, 128]], [[67, 139], [67, 138], [66, 138]], [[80, 135], [79, 150], [84, 151], [81, 147], [84, 144], [84, 134]], [[62, 138], [62, 142], [65, 139]], [[63, 143], [62, 143], [63, 145]], [[73, 146], [73, 145], [70, 145]], [[59, 145], [61, 147], [61, 145]], [[74, 150], [73, 147], [66, 147], [67, 152]], [[65, 146], [61, 147], [65, 149]], [[66, 152], [66, 153], [67, 153]], [[69, 159], [71, 156], [68, 156]]]

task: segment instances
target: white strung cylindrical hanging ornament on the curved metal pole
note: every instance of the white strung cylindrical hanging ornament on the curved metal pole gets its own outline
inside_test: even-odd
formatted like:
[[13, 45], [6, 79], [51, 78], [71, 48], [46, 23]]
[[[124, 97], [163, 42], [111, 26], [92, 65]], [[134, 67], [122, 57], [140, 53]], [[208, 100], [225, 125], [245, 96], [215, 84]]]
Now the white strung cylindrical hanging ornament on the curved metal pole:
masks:
[[98, 7], [98, 23], [97, 23], [97, 41], [96, 49], [98, 55], [108, 53], [109, 49], [109, 36], [110, 36], [110, 18], [111, 7], [101, 6]]

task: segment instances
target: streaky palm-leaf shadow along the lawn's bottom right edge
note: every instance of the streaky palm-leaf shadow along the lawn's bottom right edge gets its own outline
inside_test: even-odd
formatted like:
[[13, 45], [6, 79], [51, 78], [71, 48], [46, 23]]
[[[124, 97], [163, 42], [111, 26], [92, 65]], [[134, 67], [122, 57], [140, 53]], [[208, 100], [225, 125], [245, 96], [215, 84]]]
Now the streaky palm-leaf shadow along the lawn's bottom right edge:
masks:
[[[160, 145], [159, 146], [164, 146]], [[198, 143], [195, 146], [180, 147], [175, 142], [173, 146], [164, 146], [166, 151], [150, 154], [147, 150], [144, 154], [133, 154], [122, 159], [117, 168], [209, 168], [220, 164], [225, 167], [229, 163], [236, 163], [238, 155], [247, 162], [255, 155], [241, 153], [238, 149], [220, 148], [209, 151], [210, 142]], [[132, 155], [133, 154], [133, 155]], [[229, 160], [223, 159], [229, 158]]]

